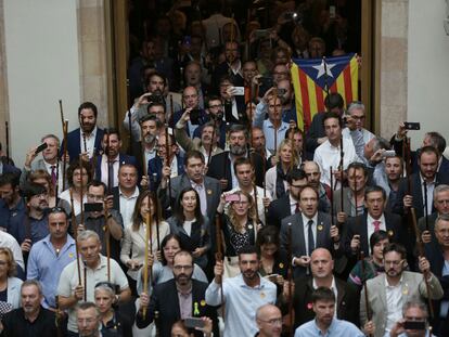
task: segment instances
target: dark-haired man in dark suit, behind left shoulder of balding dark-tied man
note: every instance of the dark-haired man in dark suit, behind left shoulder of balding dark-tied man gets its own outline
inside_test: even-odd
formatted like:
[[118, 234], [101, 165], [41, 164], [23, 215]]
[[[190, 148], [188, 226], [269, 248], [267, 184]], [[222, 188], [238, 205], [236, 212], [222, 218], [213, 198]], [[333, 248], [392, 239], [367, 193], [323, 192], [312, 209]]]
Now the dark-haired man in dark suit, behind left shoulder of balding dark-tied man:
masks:
[[282, 219], [300, 212], [299, 193], [307, 185], [307, 177], [303, 170], [293, 169], [287, 173], [288, 193], [268, 206], [267, 224], [281, 228]]

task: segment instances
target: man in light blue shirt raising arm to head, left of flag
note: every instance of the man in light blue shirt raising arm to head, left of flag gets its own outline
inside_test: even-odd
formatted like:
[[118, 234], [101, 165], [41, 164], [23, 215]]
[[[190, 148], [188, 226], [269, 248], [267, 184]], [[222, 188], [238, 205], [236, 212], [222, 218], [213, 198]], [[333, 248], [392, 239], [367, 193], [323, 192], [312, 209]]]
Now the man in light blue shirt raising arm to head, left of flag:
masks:
[[[264, 130], [267, 150], [275, 154], [278, 145], [285, 139], [288, 124], [282, 120], [282, 102], [275, 94], [275, 88], [270, 89], [256, 106], [253, 126]], [[268, 112], [268, 119], [265, 115]]]

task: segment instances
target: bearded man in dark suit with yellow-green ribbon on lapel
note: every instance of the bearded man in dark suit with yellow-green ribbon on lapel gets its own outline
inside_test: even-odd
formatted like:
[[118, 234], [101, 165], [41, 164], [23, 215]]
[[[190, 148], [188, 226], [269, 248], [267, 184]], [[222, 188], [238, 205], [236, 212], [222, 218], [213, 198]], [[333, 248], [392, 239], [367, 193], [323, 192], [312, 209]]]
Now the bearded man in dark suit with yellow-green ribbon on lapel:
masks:
[[[171, 325], [189, 317], [207, 316], [214, 322], [214, 335], [218, 334], [217, 311], [205, 302], [207, 284], [192, 280], [193, 257], [189, 251], [180, 250], [174, 257], [174, 278], [154, 287], [150, 296], [140, 295], [140, 307], [136, 315], [138, 328], [144, 328], [154, 320], [154, 313], [159, 313], [159, 335], [169, 337]], [[146, 314], [143, 315], [143, 309]], [[203, 336], [196, 330], [194, 336]]]

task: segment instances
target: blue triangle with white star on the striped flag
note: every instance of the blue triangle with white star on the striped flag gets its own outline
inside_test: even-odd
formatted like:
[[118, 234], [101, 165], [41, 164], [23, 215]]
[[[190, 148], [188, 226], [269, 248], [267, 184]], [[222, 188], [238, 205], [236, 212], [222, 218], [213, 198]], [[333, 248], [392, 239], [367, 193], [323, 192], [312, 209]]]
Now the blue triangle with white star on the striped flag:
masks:
[[[325, 59], [293, 59], [293, 62], [306, 73], [319, 87], [325, 90], [325, 85], [328, 88], [332, 87], [342, 72], [349, 64], [350, 60], [354, 57], [354, 53], [346, 54], [344, 56], [336, 57], [325, 57]], [[324, 63], [328, 76], [325, 76]]]

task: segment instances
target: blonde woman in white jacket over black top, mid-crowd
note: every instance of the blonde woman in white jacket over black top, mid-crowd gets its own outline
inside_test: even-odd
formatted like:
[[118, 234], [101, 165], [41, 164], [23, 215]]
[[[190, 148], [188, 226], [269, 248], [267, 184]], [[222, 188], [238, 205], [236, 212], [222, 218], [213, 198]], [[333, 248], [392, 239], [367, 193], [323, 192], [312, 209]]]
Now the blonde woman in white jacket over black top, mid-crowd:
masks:
[[296, 151], [293, 151], [291, 140], [283, 140], [279, 144], [275, 157], [278, 164], [271, 167], [265, 174], [267, 192], [271, 199], [280, 198], [286, 193], [286, 174], [298, 165]]

